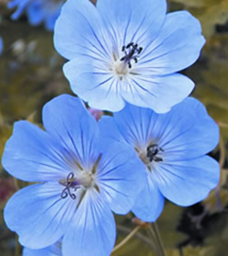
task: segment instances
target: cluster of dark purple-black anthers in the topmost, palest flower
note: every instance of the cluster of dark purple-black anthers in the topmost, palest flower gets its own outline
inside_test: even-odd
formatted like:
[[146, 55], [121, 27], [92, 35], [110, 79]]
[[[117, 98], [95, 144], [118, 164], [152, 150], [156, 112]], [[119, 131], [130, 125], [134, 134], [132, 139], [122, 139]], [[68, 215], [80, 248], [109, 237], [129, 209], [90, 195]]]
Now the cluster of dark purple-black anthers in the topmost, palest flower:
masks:
[[127, 46], [122, 46], [122, 52], [125, 53], [125, 56], [122, 57], [120, 60], [128, 63], [129, 69], [132, 68], [131, 60], [134, 60], [135, 63], [138, 62], [139, 54], [142, 52], [143, 48], [138, 47], [137, 43], [128, 43]]

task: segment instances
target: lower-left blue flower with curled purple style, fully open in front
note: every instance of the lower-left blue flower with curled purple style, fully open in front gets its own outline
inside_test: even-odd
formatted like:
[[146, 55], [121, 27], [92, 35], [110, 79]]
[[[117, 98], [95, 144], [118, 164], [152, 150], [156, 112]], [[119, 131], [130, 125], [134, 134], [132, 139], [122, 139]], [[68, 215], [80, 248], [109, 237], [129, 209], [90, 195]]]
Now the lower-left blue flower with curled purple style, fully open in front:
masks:
[[18, 179], [39, 182], [8, 201], [7, 226], [31, 249], [63, 237], [65, 256], [110, 255], [112, 211], [126, 214], [135, 204], [146, 180], [142, 162], [125, 143], [103, 140], [78, 98], [62, 95], [47, 103], [43, 124], [46, 131], [16, 122], [6, 144], [4, 168]]

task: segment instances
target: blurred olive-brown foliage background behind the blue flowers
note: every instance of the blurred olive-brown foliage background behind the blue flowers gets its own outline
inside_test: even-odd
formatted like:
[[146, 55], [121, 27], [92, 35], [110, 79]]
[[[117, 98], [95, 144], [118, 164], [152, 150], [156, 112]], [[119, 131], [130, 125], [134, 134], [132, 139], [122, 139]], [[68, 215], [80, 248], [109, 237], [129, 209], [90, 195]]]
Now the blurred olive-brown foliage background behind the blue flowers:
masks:
[[[206, 105], [220, 126], [220, 144], [210, 155], [220, 162], [221, 180], [206, 200], [194, 206], [183, 208], [167, 201], [157, 223], [168, 256], [227, 256], [228, 0], [169, 0], [168, 11], [175, 10], [188, 10], [199, 18], [207, 40], [200, 59], [182, 73], [195, 81], [192, 95]], [[41, 125], [43, 104], [56, 95], [72, 94], [62, 72], [65, 60], [53, 47], [53, 32], [43, 23], [31, 26], [26, 13], [12, 20], [14, 11], [7, 8], [7, 0], [0, 0], [4, 45], [0, 56], [0, 156], [16, 120]], [[4, 225], [2, 210], [8, 198], [25, 185], [0, 166], [1, 256], [21, 255], [17, 235]], [[132, 217], [116, 216], [117, 242], [135, 227]], [[146, 229], [113, 255], [154, 256]]]

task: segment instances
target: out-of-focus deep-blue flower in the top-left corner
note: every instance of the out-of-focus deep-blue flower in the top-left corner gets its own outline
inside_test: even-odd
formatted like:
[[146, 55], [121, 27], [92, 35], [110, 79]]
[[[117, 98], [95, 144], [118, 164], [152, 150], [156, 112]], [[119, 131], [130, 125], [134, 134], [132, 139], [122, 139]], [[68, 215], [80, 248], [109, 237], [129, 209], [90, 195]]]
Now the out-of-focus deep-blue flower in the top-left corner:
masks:
[[64, 0], [11, 0], [8, 7], [17, 6], [17, 10], [11, 16], [13, 20], [17, 20], [25, 11], [31, 25], [36, 26], [44, 22], [46, 29], [51, 31], [54, 29], [63, 3]]

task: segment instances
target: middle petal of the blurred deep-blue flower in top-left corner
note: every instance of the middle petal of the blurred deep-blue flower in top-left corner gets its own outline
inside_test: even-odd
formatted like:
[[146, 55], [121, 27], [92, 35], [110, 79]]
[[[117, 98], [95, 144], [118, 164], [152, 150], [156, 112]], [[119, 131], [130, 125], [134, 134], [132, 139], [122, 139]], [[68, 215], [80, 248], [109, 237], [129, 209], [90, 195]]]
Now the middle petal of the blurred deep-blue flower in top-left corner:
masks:
[[40, 1], [33, 1], [27, 8], [28, 20], [31, 25], [39, 25], [44, 19], [44, 10]]

